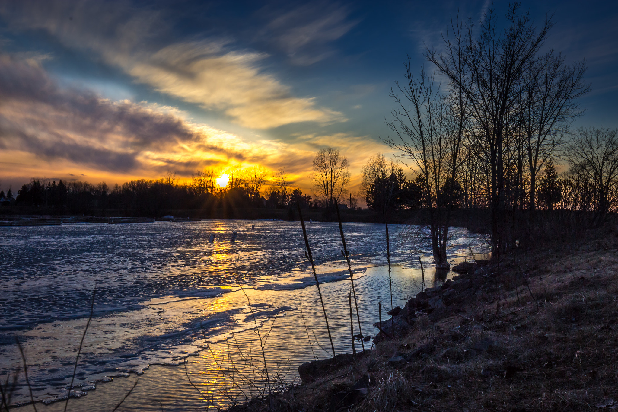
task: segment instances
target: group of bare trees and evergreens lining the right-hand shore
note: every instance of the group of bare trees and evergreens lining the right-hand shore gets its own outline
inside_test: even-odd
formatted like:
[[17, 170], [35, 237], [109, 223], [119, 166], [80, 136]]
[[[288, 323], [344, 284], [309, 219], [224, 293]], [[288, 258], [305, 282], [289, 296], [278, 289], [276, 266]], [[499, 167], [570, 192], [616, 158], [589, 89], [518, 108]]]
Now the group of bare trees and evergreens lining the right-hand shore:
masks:
[[[490, 8], [478, 27], [472, 18], [452, 21], [443, 47], [426, 48], [433, 71], [415, 75], [408, 56], [405, 82], [391, 89], [392, 135], [383, 141], [416, 179], [402, 185], [396, 165], [378, 156], [363, 169], [367, 198], [386, 212], [399, 207], [397, 196], [418, 193], [444, 267], [460, 206], [488, 209], [495, 260], [541, 232], [604, 225], [618, 206], [618, 138], [609, 128], [572, 130], [590, 91], [585, 63], [544, 48], [553, 23], [535, 27], [518, 4], [504, 20]], [[561, 175], [559, 162], [568, 166]], [[540, 209], [554, 211], [549, 232]]]

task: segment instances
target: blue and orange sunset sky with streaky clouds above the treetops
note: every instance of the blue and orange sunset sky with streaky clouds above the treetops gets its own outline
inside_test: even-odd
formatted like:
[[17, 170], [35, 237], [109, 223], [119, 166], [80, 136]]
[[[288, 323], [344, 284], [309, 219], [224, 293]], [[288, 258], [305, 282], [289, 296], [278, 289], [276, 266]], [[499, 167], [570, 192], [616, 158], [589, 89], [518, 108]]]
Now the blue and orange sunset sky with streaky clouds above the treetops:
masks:
[[[451, 15], [489, 4], [0, 0], [0, 188], [261, 165], [308, 190], [328, 146], [356, 187], [369, 156], [395, 153], [379, 136], [405, 55], [417, 71]], [[618, 127], [616, 4], [522, 4], [553, 14], [548, 48], [586, 60], [578, 126]]]

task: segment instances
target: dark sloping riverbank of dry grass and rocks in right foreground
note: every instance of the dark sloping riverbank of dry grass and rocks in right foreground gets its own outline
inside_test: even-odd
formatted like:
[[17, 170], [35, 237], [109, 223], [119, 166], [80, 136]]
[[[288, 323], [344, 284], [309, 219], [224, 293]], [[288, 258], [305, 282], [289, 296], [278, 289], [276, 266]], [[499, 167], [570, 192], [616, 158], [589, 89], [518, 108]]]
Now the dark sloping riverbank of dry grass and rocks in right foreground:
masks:
[[461, 274], [408, 301], [420, 307], [407, 332], [231, 410], [266, 411], [271, 402], [276, 411], [610, 408], [618, 404], [617, 249], [609, 236], [561, 243]]

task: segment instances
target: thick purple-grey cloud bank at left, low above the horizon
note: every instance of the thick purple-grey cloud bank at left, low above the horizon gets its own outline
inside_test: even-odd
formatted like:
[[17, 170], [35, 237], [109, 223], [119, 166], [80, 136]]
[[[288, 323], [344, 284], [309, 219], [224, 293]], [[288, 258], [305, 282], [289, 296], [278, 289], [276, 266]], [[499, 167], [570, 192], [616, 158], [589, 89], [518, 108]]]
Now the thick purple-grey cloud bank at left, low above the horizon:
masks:
[[[129, 172], [145, 166], [138, 160], [143, 151], [169, 149], [183, 142], [229, 158], [243, 158], [240, 153], [206, 144], [203, 132], [157, 107], [114, 102], [89, 90], [61, 88], [36, 60], [0, 56], [0, 96], [0, 147], [27, 151], [42, 159], [66, 159]], [[190, 164], [185, 162], [187, 167]]]

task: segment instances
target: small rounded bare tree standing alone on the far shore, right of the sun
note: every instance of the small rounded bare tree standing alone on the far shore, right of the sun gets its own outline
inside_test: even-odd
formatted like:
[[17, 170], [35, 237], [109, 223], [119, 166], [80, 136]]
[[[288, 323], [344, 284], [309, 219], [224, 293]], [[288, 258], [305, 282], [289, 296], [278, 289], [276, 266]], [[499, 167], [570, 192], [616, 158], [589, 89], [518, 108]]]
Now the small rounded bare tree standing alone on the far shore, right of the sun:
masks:
[[341, 196], [347, 193], [349, 167], [347, 158], [335, 148], [320, 149], [313, 159], [313, 191], [327, 207], [339, 204]]

